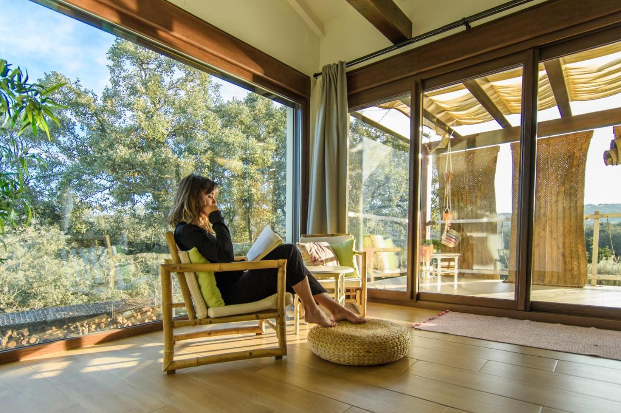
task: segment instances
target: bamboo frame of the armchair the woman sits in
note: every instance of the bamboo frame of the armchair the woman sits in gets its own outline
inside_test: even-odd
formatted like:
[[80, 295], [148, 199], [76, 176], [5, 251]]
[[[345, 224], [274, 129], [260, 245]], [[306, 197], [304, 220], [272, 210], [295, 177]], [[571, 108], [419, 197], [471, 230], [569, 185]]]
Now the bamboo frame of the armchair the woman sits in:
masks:
[[[245, 360], [256, 357], [275, 357], [283, 358], [287, 355], [287, 332], [285, 321], [286, 291], [285, 277], [287, 260], [261, 260], [253, 262], [230, 262], [220, 264], [182, 264], [179, 252], [175, 244], [175, 238], [169, 231], [166, 233], [166, 241], [170, 249], [171, 259], [166, 259], [165, 264], [160, 267], [161, 277], [161, 308], [164, 326], [164, 360], [162, 371], [171, 374], [179, 368], [188, 368], [212, 363], [229, 362], [232, 360]], [[239, 259], [241, 257], [237, 257]], [[234, 270], [254, 270], [254, 269], [278, 269], [277, 289], [276, 289], [276, 308], [263, 309], [253, 313], [233, 314], [222, 317], [197, 318], [196, 310], [192, 301], [191, 293], [186, 282], [186, 273], [197, 271], [234, 271]], [[183, 303], [173, 303], [173, 282], [171, 273], [176, 273]], [[245, 305], [245, 304], [237, 304]], [[218, 307], [223, 309], [232, 306]], [[173, 308], [186, 308], [188, 312], [187, 320], [173, 319]], [[270, 319], [275, 319], [276, 324]], [[222, 324], [229, 322], [258, 321], [258, 326], [240, 326], [224, 329], [203, 329], [201, 331], [181, 332], [175, 334], [176, 327], [197, 327], [210, 324]], [[225, 354], [207, 355], [184, 360], [175, 360], [175, 343], [181, 340], [196, 339], [198, 337], [211, 337], [214, 335], [225, 334], [245, 334], [255, 333], [256, 335], [265, 332], [265, 323], [276, 331], [278, 337], [278, 347], [258, 350], [243, 350]]]

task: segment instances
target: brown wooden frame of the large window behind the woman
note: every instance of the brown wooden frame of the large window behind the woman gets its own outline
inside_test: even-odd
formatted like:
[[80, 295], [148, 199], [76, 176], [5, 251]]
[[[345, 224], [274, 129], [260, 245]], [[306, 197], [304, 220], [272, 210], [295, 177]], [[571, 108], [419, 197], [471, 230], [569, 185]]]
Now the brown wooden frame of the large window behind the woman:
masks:
[[[152, 25], [151, 22], [142, 22], [142, 24], [138, 22], [136, 25], [134, 20], [128, 19], [127, 27], [124, 27], [124, 25], [117, 24], [111, 19], [106, 19], [106, 16], [117, 17], [120, 21], [124, 21], [119, 18], [119, 16], [124, 16], [124, 13], [127, 14], [127, 10], [117, 10], [114, 6], [99, 4], [98, 2], [91, 0], [32, 1], [40, 6], [48, 7], [53, 11], [60, 12], [67, 17], [71, 17], [79, 20], [80, 22], [91, 25], [95, 29], [111, 33], [112, 35], [128, 40], [129, 42], [136, 43], [142, 47], [153, 50], [156, 53], [167, 56], [168, 58], [188, 64], [189, 66], [201, 71], [205, 71], [216, 78], [220, 78], [224, 81], [243, 87], [243, 89], [247, 89], [250, 92], [274, 100], [288, 107], [288, 109], [291, 109], [290, 111], [288, 110], [287, 114], [287, 177], [288, 180], [289, 177], [291, 177], [293, 182], [291, 182], [291, 185], [288, 182], [287, 185], [287, 241], [292, 242], [299, 239], [300, 234], [306, 231], [307, 193], [309, 188], [309, 177], [307, 171], [309, 165], [310, 78], [307, 78], [306, 75], [300, 73], [299, 71], [286, 66], [286, 64], [279, 62], [269, 55], [265, 55], [262, 51], [247, 45], [247, 43], [241, 42], [240, 40], [228, 35], [225, 32], [222, 32], [221, 30], [181, 9], [179, 9], [179, 13], [191, 16], [191, 24], [208, 25], [213, 30], [220, 32], [219, 35], [227, 37], [230, 39], [230, 42], [237, 44], [238, 48], [242, 50], [249, 50], [250, 57], [247, 56], [247, 58], [255, 58], [258, 60], [262, 59], [260, 63], [265, 66], [266, 73], [261, 76], [253, 74], [249, 74], [248, 76], [232, 74], [227, 71], [227, 69], [243, 74], [243, 71], [240, 71], [240, 68], [243, 68], [244, 63], [242, 61], [235, 61], [235, 56], [229, 56], [229, 61], [220, 58], [219, 60], [214, 60], [215, 62], [219, 62], [219, 64], [209, 64], [195, 58], [189, 53], [178, 50], [170, 44], [166, 44], [165, 39], [160, 39], [160, 41], [158, 41], [150, 37], [150, 35], [153, 34], [150, 31], [150, 25]], [[135, 5], [137, 6], [138, 0], [134, 1], [136, 1]], [[166, 1], [156, 1], [161, 2], [161, 4], [165, 6], [168, 5], [178, 9], [178, 7], [171, 5]], [[81, 4], [85, 7], [94, 7], [97, 14], [95, 12], [85, 11], [76, 6], [76, 4]], [[135, 7], [135, 9], [138, 8]], [[132, 24], [134, 25], [132, 26]], [[181, 43], [183, 44], [183, 42]], [[211, 50], [208, 51], [211, 52]], [[263, 58], [263, 56], [265, 56], [265, 58]], [[248, 79], [253, 79], [254, 82], [251, 82]], [[292, 197], [291, 200], [289, 200], [289, 196]], [[186, 318], [187, 316], [181, 316], [178, 319]], [[76, 337], [51, 340], [49, 342], [43, 342], [35, 345], [27, 345], [17, 349], [2, 350], [0, 351], [0, 364], [15, 362], [24, 358], [34, 357], [35, 355], [43, 355], [61, 350], [77, 349], [86, 345], [99, 344], [109, 340], [131, 337], [132, 335], [159, 331], [162, 329], [162, 325], [162, 321], [157, 320], [145, 322], [136, 326], [120, 327], [107, 331], [79, 335]]]

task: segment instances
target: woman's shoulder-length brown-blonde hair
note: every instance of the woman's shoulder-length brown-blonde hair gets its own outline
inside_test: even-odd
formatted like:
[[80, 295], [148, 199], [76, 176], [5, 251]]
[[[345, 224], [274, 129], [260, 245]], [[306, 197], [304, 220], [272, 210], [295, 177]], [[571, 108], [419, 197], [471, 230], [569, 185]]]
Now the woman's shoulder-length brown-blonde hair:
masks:
[[213, 233], [211, 223], [202, 210], [206, 207], [205, 195], [214, 192], [218, 187], [214, 181], [200, 175], [188, 175], [181, 179], [175, 193], [173, 209], [168, 214], [168, 223], [176, 226], [180, 222], [194, 224]]

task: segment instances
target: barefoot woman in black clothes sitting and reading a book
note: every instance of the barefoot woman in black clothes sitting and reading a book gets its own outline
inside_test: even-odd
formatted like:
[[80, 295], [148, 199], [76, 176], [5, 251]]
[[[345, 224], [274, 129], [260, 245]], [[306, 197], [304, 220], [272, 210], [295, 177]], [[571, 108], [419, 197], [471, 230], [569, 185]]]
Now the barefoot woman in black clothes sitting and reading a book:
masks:
[[[188, 175], [179, 183], [168, 223], [175, 227], [175, 241], [180, 249], [193, 247], [209, 262], [232, 262], [233, 244], [229, 228], [217, 206], [218, 187], [214, 181]], [[324, 327], [336, 326], [340, 320], [365, 322], [340, 306], [304, 267], [302, 256], [293, 244], [283, 244], [267, 254], [264, 260], [286, 259], [286, 290], [296, 293], [304, 306], [304, 319]], [[226, 271], [215, 273], [215, 283], [225, 304], [258, 301], [276, 293], [278, 270]], [[324, 306], [332, 319], [319, 309]]]

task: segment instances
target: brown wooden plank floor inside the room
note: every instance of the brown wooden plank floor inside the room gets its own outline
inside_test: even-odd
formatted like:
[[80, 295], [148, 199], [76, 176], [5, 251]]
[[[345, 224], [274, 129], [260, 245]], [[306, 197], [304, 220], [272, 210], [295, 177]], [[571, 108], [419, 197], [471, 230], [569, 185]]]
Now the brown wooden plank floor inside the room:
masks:
[[[404, 326], [436, 311], [369, 304]], [[0, 365], [6, 412], [621, 412], [621, 362], [412, 330], [398, 362], [340, 366], [289, 326], [288, 355], [161, 373], [161, 332]], [[258, 349], [266, 334], [196, 339], [178, 357]]]

